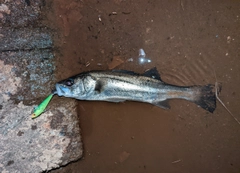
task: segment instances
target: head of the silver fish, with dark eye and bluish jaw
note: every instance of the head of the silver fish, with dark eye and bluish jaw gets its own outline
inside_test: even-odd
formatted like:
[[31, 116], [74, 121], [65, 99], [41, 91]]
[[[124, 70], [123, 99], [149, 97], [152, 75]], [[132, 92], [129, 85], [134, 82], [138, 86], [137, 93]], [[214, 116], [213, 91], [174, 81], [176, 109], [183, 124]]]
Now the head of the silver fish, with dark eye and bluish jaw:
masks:
[[56, 83], [55, 87], [58, 96], [77, 98], [86, 94], [82, 77], [71, 77], [62, 80]]

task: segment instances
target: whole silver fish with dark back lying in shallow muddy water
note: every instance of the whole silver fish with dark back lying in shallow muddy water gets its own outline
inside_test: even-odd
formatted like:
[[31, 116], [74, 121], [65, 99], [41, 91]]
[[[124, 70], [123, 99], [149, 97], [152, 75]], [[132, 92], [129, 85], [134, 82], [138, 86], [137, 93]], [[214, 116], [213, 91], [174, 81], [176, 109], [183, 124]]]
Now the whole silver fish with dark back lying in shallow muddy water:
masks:
[[58, 96], [78, 100], [146, 102], [170, 109], [169, 100], [184, 99], [213, 113], [215, 85], [176, 86], [165, 83], [156, 67], [143, 74], [128, 70], [89, 71], [55, 84]]

